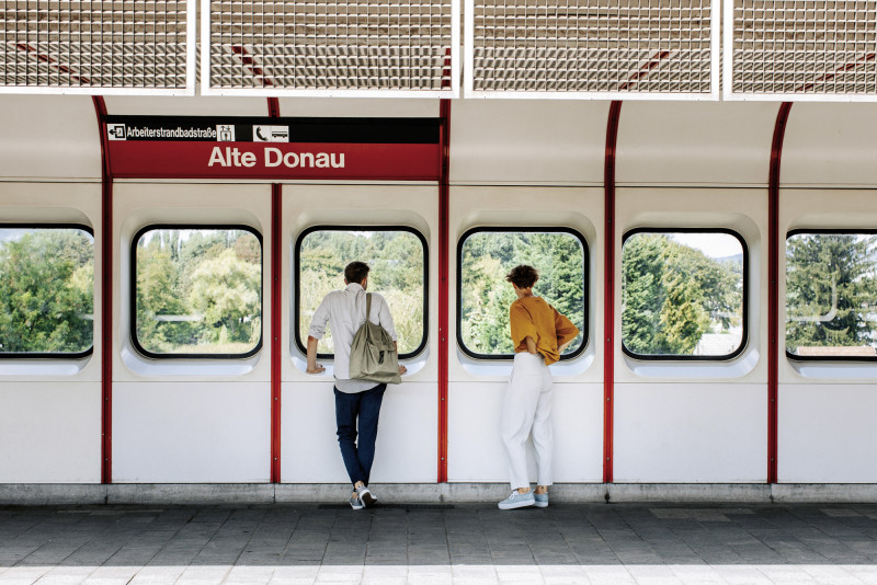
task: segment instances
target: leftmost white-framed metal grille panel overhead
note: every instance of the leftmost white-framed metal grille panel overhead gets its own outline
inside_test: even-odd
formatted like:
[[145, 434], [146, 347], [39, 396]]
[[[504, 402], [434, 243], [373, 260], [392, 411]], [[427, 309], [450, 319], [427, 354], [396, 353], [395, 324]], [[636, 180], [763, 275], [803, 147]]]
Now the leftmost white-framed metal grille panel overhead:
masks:
[[185, 1], [0, 0], [0, 92], [193, 94], [190, 21]]

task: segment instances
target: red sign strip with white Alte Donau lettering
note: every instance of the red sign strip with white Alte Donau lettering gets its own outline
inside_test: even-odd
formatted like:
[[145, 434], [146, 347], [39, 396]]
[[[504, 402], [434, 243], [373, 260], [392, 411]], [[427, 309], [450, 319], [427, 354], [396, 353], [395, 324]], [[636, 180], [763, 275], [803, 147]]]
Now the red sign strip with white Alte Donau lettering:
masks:
[[441, 146], [424, 144], [107, 140], [119, 179], [437, 181]]

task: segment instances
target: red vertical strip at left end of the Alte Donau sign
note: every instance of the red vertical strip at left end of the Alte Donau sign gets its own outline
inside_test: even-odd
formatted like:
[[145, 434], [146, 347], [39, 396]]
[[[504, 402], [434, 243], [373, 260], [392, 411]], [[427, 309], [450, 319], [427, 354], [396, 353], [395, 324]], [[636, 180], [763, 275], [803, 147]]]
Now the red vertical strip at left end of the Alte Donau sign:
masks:
[[92, 97], [101, 134], [101, 483], [113, 482], [113, 176], [106, 148], [106, 104]]

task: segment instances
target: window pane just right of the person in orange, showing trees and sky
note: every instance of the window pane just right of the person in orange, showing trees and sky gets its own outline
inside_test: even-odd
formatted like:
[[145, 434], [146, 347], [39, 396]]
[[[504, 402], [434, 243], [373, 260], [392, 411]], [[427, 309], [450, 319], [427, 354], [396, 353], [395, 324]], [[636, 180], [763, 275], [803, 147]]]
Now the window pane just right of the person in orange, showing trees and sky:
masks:
[[747, 246], [729, 230], [633, 230], [622, 345], [638, 359], [730, 359], [747, 341]]

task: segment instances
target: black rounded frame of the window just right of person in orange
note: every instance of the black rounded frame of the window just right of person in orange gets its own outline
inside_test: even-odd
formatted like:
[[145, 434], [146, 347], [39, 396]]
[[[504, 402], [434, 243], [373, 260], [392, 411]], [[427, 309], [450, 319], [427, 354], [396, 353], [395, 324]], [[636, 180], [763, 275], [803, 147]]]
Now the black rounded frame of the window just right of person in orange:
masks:
[[[624, 266], [622, 265], [624, 260], [624, 244], [627, 240], [636, 236], [638, 233], [726, 233], [728, 236], [732, 236], [740, 242], [740, 246], [743, 251], [743, 310], [742, 316], [740, 318], [741, 324], [743, 326], [743, 333], [740, 337], [740, 345], [738, 345], [737, 349], [731, 352], [730, 354], [726, 355], [681, 355], [681, 354], [638, 354], [631, 352], [624, 342], [624, 334], [619, 333], [620, 342], [622, 342], [622, 353], [629, 357], [630, 359], [636, 359], [640, 362], [731, 362], [738, 357], [740, 357], [743, 352], [745, 352], [747, 346], [749, 345], [749, 246], [747, 245], [747, 240], [743, 236], [730, 228], [650, 228], [650, 227], [640, 227], [634, 228], [628, 230], [622, 236], [622, 248], [620, 248], [620, 257], [618, 259], [618, 267], [620, 268], [622, 276], [619, 278], [619, 287], [618, 291], [620, 294], [620, 284], [624, 280]], [[624, 314], [624, 308], [622, 303], [618, 303], [618, 318], [622, 319]]]

